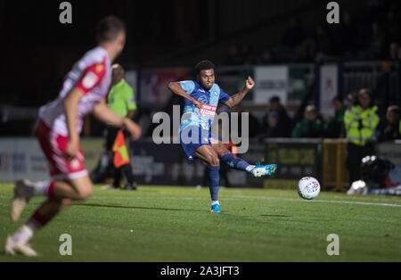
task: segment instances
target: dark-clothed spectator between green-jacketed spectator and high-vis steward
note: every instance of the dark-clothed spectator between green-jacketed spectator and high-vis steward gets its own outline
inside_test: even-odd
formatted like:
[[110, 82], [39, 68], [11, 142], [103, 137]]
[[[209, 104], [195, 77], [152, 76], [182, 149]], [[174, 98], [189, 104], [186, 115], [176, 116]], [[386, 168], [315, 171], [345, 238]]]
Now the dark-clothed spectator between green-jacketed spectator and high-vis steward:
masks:
[[334, 97], [332, 100], [332, 106], [334, 107], [334, 115], [332, 115], [324, 123], [324, 136], [327, 138], [342, 138], [344, 134], [344, 115], [347, 110], [347, 106], [344, 105], [342, 97], [340, 95]]

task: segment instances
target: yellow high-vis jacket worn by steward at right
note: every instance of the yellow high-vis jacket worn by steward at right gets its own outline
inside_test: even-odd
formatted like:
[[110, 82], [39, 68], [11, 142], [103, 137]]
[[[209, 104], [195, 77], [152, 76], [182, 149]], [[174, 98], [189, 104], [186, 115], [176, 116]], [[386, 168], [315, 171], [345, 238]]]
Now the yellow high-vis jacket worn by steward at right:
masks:
[[352, 106], [344, 116], [348, 143], [364, 146], [375, 140], [375, 131], [380, 122], [378, 107], [372, 106], [365, 110], [360, 106]]

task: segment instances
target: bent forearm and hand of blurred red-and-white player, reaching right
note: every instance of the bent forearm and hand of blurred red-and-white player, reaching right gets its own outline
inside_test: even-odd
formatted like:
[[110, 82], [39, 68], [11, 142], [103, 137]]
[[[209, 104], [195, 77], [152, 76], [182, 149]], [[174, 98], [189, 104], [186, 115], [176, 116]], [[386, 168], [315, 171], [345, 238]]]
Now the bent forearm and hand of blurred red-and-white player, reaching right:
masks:
[[105, 101], [102, 101], [94, 106], [93, 114], [96, 119], [99, 119], [103, 123], [117, 128], [127, 129], [134, 140], [137, 140], [141, 137], [141, 128], [131, 119], [120, 117], [111, 111]]

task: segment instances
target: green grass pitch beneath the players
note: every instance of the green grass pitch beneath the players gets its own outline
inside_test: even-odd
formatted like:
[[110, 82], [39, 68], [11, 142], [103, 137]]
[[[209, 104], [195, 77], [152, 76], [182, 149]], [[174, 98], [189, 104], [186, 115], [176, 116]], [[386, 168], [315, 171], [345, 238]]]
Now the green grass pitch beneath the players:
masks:
[[[398, 197], [322, 193], [304, 201], [296, 190], [221, 189], [221, 214], [209, 213], [209, 189], [139, 186], [102, 191], [65, 210], [32, 240], [35, 259], [4, 254], [4, 241], [44, 199], [35, 198], [20, 222], [9, 217], [12, 184], [0, 184], [0, 262], [4, 261], [401, 261]], [[72, 237], [72, 256], [59, 238]], [[329, 256], [327, 236], [340, 255]]]

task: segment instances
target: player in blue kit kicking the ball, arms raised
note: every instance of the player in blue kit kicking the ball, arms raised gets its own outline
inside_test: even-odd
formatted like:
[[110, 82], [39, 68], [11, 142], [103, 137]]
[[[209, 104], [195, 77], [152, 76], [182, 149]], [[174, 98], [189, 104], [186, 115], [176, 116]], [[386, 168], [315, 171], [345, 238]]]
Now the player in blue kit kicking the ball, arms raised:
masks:
[[[198, 158], [208, 164], [209, 189], [213, 213], [220, 212], [218, 202], [220, 161], [232, 169], [248, 171], [255, 177], [271, 175], [276, 165], [250, 165], [235, 158], [224, 144], [213, 136], [210, 126], [216, 114], [217, 104], [225, 103], [230, 108], [241, 103], [242, 99], [255, 86], [252, 78], [247, 78], [244, 88], [237, 95], [230, 97], [215, 84], [215, 65], [209, 61], [198, 63], [195, 67], [197, 80], [174, 82], [168, 88], [185, 98], [184, 116], [180, 128], [180, 142], [190, 161]], [[187, 117], [187, 118], [186, 118]]]

